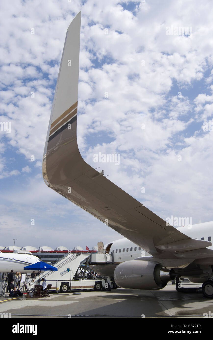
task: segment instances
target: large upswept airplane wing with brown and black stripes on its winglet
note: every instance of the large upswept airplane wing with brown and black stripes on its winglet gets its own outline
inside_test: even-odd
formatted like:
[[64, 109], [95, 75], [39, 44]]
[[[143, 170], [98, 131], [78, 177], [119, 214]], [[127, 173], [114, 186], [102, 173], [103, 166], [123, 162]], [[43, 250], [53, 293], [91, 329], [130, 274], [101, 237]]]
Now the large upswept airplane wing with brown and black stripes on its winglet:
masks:
[[80, 19], [81, 12], [66, 33], [43, 157], [45, 183], [151, 255], [188, 263], [187, 256], [181, 254], [194, 252], [192, 262], [196, 251], [206, 251], [211, 242], [194, 240], [166, 225], [80, 155], [76, 135]]

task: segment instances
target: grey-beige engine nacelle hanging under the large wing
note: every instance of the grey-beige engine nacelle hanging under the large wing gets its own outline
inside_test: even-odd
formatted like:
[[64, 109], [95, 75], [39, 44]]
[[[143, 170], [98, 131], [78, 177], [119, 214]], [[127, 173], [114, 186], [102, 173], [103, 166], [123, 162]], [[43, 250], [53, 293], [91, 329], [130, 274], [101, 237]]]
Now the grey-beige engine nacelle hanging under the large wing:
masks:
[[132, 260], [122, 262], [116, 267], [114, 279], [122, 288], [162, 289], [173, 276], [157, 262]]

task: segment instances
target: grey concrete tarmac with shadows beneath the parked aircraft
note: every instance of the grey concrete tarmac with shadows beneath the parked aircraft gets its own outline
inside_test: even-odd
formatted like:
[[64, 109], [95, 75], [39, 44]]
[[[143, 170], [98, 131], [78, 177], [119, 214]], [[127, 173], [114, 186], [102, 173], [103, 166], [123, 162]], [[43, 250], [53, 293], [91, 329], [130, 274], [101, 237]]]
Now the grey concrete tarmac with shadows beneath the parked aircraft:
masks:
[[[182, 287], [200, 287], [182, 284]], [[168, 284], [161, 290], [117, 288], [85, 290], [80, 294], [51, 293], [50, 297], [0, 298], [0, 314], [11, 318], [203, 318], [213, 312], [213, 300], [201, 293], [178, 293]], [[1, 314], [2, 317], [3, 314]]]

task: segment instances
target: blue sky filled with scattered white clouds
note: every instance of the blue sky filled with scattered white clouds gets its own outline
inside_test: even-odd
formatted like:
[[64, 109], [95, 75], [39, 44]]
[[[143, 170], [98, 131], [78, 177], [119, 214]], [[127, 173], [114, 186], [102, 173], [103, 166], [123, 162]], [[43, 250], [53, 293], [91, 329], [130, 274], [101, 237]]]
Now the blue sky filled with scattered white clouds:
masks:
[[[0, 245], [85, 249], [120, 238], [42, 178], [66, 29], [80, 10], [83, 158], [163, 219], [212, 221], [212, 2], [3, 1]], [[94, 163], [98, 152], [120, 164]]]

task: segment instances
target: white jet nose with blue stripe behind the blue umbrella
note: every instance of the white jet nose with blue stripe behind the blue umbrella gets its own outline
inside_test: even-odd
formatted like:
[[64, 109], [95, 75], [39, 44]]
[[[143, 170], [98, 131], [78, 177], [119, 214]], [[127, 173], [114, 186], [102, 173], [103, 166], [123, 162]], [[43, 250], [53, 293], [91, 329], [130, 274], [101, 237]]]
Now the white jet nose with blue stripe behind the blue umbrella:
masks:
[[14, 272], [20, 272], [21, 274], [30, 273], [31, 271], [24, 270], [24, 267], [40, 261], [40, 258], [32, 255], [29, 251], [16, 250], [14, 253], [0, 252], [0, 272], [9, 273], [13, 269]]

